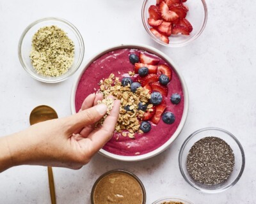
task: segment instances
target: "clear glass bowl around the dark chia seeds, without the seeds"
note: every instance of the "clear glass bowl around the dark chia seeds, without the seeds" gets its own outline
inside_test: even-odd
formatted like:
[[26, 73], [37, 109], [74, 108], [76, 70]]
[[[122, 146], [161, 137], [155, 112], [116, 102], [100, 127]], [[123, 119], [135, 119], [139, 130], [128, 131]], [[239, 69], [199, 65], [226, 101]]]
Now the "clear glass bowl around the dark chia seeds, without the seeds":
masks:
[[[218, 138], [221, 138], [225, 142], [227, 142], [228, 145], [230, 145], [231, 149], [233, 150], [233, 153], [235, 156], [235, 166], [230, 177], [225, 182], [216, 184], [216, 185], [205, 185], [205, 184], [201, 184], [200, 182], [196, 182], [189, 175], [186, 167], [186, 160], [191, 147], [198, 140], [205, 138], [207, 136], [216, 136]], [[245, 164], [245, 157], [244, 157], [244, 150], [243, 150], [243, 147], [241, 146], [241, 143], [237, 140], [237, 138], [234, 135], [232, 135], [225, 129], [220, 129], [220, 128], [203, 128], [203, 129], [199, 129], [198, 131], [195, 131], [195, 133], [190, 135], [185, 140], [179, 152], [180, 173], [192, 187], [204, 193], [220, 193], [234, 186], [243, 174], [244, 164]]]

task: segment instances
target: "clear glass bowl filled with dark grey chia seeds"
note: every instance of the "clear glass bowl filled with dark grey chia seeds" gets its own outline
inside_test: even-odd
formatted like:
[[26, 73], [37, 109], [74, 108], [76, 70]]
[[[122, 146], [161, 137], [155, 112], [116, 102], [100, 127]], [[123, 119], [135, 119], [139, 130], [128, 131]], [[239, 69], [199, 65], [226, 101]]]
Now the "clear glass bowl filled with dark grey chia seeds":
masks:
[[237, 138], [220, 128], [192, 133], [179, 152], [184, 179], [204, 193], [220, 193], [234, 186], [244, 171], [244, 150]]

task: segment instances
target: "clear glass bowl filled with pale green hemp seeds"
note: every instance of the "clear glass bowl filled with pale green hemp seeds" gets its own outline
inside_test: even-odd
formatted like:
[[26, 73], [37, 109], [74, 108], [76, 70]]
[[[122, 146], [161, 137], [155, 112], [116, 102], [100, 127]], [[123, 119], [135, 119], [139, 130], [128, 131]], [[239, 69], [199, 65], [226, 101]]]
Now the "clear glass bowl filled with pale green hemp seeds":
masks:
[[42, 18], [28, 25], [19, 40], [19, 59], [41, 82], [66, 80], [81, 66], [84, 42], [77, 28], [62, 18]]

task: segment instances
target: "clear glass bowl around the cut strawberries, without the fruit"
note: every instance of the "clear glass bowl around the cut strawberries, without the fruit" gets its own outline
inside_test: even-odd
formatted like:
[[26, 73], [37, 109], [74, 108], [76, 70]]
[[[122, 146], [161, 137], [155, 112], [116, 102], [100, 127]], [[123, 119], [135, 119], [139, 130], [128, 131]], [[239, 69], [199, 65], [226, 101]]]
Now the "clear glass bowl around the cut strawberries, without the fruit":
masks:
[[170, 42], [167, 44], [154, 36], [154, 34], [152, 34], [150, 31], [150, 25], [148, 25], [148, 8], [151, 5], [156, 5], [156, 0], [144, 0], [141, 10], [141, 18], [147, 33], [153, 40], [167, 47], [181, 47], [187, 45], [200, 36], [200, 34], [204, 31], [208, 16], [205, 0], [188, 0], [184, 4], [189, 8], [186, 18], [193, 26], [193, 31], [189, 34], [189, 36], [182, 34], [171, 35], [169, 37]]

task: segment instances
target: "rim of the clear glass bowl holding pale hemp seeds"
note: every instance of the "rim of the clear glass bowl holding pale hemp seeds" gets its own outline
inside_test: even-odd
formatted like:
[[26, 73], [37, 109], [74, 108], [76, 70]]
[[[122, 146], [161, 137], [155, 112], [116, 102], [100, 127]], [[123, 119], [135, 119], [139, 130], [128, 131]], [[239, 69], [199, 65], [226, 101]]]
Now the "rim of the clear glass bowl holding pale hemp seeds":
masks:
[[[51, 77], [51, 80], [48, 80], [46, 77], [44, 76], [39, 76], [36, 75], [34, 73], [32, 73], [32, 71], [30, 71], [27, 67], [26, 64], [24, 63], [23, 59], [22, 59], [22, 51], [21, 51], [21, 47], [22, 47], [22, 42], [24, 40], [24, 37], [26, 36], [26, 34], [28, 33], [28, 31], [35, 26], [38, 23], [41, 22], [45, 22], [48, 20], [55, 20], [57, 22], [62, 22], [66, 25], [68, 25], [76, 34], [77, 36], [77, 40], [79, 42], [79, 47], [80, 47], [80, 54], [79, 54], [79, 58], [77, 60], [77, 64], [75, 66], [75, 68], [72, 70], [72, 72], [69, 73], [69, 75], [61, 75], [59, 77]], [[45, 83], [58, 83], [58, 82], [62, 82], [63, 80], [67, 80], [67, 78], [71, 77], [74, 73], [76, 73], [77, 69], [79, 69], [79, 67], [81, 66], [81, 63], [83, 62], [83, 58], [84, 58], [84, 40], [83, 37], [81, 36], [81, 33], [78, 31], [78, 29], [72, 24], [70, 23], [68, 20], [65, 20], [63, 18], [58, 18], [58, 17], [45, 17], [45, 18], [40, 18], [38, 20], [35, 20], [34, 22], [32, 22], [31, 24], [29, 24], [26, 29], [24, 29], [24, 31], [22, 32], [20, 39], [19, 39], [19, 45], [18, 45], [18, 55], [19, 55], [19, 61], [20, 64], [22, 65], [22, 68], [25, 69], [25, 71], [33, 78], [35, 78], [36, 80], [40, 81], [40, 82], [45, 82]], [[54, 79], [54, 80], [52, 80]]]

